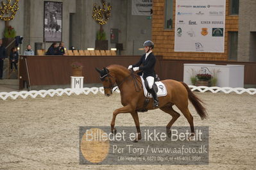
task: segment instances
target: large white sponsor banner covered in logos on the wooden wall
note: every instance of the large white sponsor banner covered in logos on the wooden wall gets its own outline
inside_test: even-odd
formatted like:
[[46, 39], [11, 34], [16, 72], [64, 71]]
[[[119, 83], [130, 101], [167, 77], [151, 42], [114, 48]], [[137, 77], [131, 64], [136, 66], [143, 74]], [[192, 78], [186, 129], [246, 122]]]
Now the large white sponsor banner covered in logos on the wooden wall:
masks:
[[226, 0], [176, 0], [175, 51], [224, 52]]

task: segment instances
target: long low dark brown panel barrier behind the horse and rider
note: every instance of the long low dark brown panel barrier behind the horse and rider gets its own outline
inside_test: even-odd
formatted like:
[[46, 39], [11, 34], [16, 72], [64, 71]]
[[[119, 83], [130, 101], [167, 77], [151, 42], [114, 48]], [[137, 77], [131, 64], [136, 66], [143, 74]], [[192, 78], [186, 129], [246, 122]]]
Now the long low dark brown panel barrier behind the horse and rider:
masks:
[[[19, 60], [20, 89], [24, 82], [28, 86], [48, 86], [70, 84], [71, 63], [83, 65], [85, 83], [101, 83], [95, 68], [108, 65], [128, 66], [136, 63], [141, 56], [21, 56]], [[155, 72], [161, 80], [183, 81], [184, 63], [207, 63], [216, 65], [244, 65], [244, 84], [256, 84], [256, 63], [237, 61], [198, 61], [182, 59], [162, 59], [157, 56]]]

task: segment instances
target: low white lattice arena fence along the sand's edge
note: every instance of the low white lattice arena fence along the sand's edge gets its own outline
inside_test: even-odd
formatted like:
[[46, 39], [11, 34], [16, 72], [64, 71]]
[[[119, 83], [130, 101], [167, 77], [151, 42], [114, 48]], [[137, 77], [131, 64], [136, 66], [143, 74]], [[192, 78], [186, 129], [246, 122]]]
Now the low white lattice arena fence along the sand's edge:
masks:
[[[237, 94], [242, 94], [242, 93], [249, 93], [250, 95], [255, 95], [256, 94], [256, 89], [255, 88], [248, 88], [248, 89], [244, 89], [244, 88], [219, 88], [219, 87], [206, 87], [206, 86], [191, 86], [189, 85], [189, 88], [191, 88], [191, 91], [200, 91], [201, 93], [210, 91], [212, 93], [218, 93], [218, 92], [223, 92], [223, 93], [232, 93], [235, 92]], [[113, 89], [113, 91], [120, 93], [119, 89], [117, 87], [115, 87]], [[94, 95], [96, 95], [97, 93], [102, 93], [104, 94], [104, 88], [81, 88], [81, 89], [71, 89], [71, 88], [67, 88], [67, 89], [48, 89], [48, 90], [31, 90], [31, 91], [12, 91], [12, 92], [1, 92], [0, 93], [0, 98], [2, 100], [6, 100], [7, 98], [12, 98], [13, 100], [15, 100], [16, 98], [36, 98], [36, 97], [54, 97], [54, 96], [62, 96], [62, 95], [72, 95], [72, 94], [76, 94], [76, 95], [88, 95], [89, 93], [93, 93]]]

